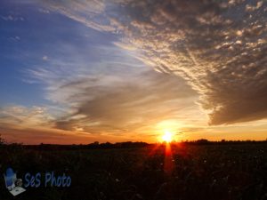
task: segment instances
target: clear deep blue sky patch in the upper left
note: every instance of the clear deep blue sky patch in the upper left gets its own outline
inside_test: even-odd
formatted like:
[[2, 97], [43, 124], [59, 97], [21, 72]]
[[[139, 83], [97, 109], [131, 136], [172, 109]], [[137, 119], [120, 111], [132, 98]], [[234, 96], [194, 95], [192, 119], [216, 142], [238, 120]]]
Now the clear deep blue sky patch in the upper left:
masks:
[[[49, 12], [38, 4], [2, 1], [0, 8], [1, 105], [30, 106], [48, 103], [44, 84], [34, 83], [28, 69], [46, 66], [49, 60], [68, 60], [71, 51], [80, 53], [89, 65], [98, 60], [94, 47], [113, 46], [115, 36], [85, 28], [56, 12]], [[64, 46], [72, 50], [65, 51]], [[48, 64], [49, 65], [49, 64]]]

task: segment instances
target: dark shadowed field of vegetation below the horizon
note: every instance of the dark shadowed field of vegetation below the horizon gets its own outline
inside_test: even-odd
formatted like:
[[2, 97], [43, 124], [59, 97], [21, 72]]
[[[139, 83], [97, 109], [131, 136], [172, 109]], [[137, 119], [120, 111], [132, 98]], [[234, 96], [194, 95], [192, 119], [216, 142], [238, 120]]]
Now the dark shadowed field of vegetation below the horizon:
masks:
[[0, 172], [54, 171], [70, 188], [27, 188], [12, 197], [0, 179], [0, 199], [266, 200], [267, 142], [198, 140], [172, 144], [172, 172], [165, 172], [165, 144], [0, 145]]

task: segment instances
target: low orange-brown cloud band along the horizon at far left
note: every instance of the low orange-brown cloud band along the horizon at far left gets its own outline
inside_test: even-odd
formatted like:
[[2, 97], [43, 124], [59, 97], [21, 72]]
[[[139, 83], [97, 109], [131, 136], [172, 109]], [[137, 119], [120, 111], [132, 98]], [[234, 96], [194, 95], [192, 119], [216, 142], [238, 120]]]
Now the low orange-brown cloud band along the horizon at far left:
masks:
[[[78, 119], [79, 116], [73, 117]], [[93, 141], [125, 141], [131, 140], [129, 135], [89, 134], [82, 127], [73, 126], [68, 130], [65, 126], [55, 128], [57, 118], [52, 116], [48, 108], [9, 106], [0, 108], [0, 135], [9, 143], [26, 144], [86, 144]]]

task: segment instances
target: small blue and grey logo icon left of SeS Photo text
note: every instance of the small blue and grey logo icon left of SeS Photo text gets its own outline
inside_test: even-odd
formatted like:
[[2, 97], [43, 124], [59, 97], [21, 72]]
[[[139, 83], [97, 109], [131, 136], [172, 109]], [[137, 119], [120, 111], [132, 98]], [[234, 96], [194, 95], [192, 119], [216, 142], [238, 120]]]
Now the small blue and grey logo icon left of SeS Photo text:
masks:
[[9, 190], [12, 196], [20, 195], [20, 193], [26, 191], [25, 188], [22, 188], [22, 180], [17, 179], [17, 174], [13, 172], [12, 168], [7, 168], [4, 173], [4, 183], [5, 188]]

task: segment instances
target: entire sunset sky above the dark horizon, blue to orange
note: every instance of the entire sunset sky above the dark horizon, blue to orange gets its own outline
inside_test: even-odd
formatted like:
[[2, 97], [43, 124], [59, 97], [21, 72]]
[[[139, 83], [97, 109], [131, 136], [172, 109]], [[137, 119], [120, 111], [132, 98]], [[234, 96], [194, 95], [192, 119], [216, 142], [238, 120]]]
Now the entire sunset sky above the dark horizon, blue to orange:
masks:
[[267, 139], [267, 2], [2, 0], [0, 134]]

